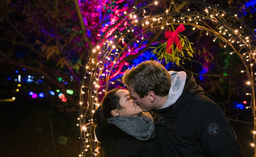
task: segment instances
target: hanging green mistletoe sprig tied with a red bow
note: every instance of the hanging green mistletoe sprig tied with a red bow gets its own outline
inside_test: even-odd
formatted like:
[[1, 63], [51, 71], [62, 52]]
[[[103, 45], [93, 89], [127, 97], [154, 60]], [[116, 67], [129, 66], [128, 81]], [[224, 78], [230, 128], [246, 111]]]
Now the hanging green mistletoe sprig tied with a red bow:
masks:
[[166, 38], [169, 38], [167, 42], [151, 48], [154, 49], [152, 52], [157, 55], [157, 60], [160, 62], [164, 59], [166, 63], [172, 62], [179, 66], [180, 61], [185, 64], [185, 60], [190, 60], [193, 57], [194, 51], [191, 46], [193, 43], [189, 42], [186, 36], [178, 34], [185, 30], [182, 24], [176, 30], [173, 26], [172, 29], [174, 31], [165, 32]]

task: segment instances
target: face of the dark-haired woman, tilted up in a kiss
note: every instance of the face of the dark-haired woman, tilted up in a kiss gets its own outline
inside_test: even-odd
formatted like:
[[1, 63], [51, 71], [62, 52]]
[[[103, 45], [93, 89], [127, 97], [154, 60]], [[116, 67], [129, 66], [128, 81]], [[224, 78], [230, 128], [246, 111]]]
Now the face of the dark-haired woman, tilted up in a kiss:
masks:
[[119, 111], [119, 115], [138, 117], [143, 112], [143, 109], [141, 109], [140, 106], [137, 106], [137, 104], [133, 102], [128, 90], [120, 89], [116, 92], [116, 94], [120, 96], [119, 103], [122, 106], [122, 110]]

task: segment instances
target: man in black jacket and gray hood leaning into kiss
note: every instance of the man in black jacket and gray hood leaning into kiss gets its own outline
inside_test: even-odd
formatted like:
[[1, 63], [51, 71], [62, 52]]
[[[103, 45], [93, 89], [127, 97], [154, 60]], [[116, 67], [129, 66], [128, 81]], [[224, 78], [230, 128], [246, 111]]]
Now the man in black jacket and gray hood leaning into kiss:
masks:
[[150, 60], [125, 71], [122, 82], [143, 111], [157, 115], [165, 157], [244, 157], [222, 108], [192, 74]]

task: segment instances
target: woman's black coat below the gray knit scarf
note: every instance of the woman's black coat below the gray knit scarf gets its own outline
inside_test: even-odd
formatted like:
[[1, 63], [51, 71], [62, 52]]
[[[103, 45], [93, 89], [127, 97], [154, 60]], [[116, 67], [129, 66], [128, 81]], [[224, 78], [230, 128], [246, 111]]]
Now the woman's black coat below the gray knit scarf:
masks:
[[163, 157], [156, 137], [140, 141], [113, 124], [96, 126], [94, 133], [105, 151], [104, 157]]

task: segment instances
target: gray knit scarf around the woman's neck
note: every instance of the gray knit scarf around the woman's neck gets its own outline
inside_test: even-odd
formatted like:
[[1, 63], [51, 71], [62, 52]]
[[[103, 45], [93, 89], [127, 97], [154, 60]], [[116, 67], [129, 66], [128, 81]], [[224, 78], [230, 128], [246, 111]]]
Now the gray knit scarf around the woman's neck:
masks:
[[154, 120], [148, 112], [143, 112], [140, 117], [115, 116], [107, 121], [138, 140], [145, 141], [154, 137]]

